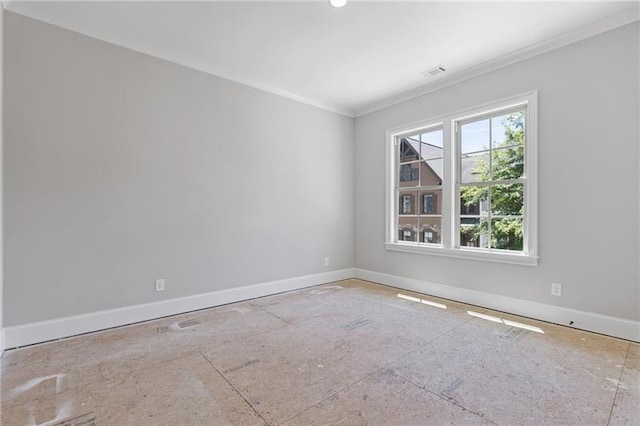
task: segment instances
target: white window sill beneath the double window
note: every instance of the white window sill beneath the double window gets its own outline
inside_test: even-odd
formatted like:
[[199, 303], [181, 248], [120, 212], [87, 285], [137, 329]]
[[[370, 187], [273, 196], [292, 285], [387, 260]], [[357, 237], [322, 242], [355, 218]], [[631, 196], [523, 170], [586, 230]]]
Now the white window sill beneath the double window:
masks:
[[480, 251], [468, 248], [445, 248], [439, 246], [425, 246], [412, 243], [386, 243], [386, 250], [404, 253], [426, 254], [432, 256], [453, 257], [457, 259], [480, 260], [485, 262], [508, 263], [512, 265], [538, 266], [538, 257], [522, 253], [503, 251]]

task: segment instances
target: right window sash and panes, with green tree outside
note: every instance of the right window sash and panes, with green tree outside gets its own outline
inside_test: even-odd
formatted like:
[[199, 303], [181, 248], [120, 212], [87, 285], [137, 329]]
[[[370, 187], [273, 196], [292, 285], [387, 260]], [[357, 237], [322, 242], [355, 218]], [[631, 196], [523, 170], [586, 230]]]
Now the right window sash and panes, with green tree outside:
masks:
[[457, 122], [465, 246], [523, 250], [526, 105]]

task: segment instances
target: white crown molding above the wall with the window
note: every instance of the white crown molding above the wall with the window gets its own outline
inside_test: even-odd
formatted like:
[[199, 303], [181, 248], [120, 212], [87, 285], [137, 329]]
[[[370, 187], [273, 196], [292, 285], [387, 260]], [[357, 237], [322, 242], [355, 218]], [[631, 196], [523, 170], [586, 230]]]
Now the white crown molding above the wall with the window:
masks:
[[435, 92], [445, 87], [453, 86], [466, 80], [478, 77], [480, 75], [498, 70], [500, 68], [522, 62], [555, 49], [576, 43], [580, 40], [596, 36], [598, 34], [614, 30], [616, 28], [631, 24], [640, 20], [640, 3], [636, 5], [635, 10], [625, 10], [623, 12], [611, 15], [605, 19], [595, 21], [589, 25], [579, 29], [566, 32], [557, 37], [541, 41], [531, 46], [516, 50], [498, 58], [489, 60], [482, 64], [476, 65], [465, 70], [455, 72], [449, 76], [443, 77], [433, 83], [422, 84], [413, 89], [406, 90], [395, 95], [389, 96], [380, 101], [370, 103], [364, 107], [355, 110], [355, 117], [362, 117], [372, 112], [379, 111], [406, 102], [411, 99]]

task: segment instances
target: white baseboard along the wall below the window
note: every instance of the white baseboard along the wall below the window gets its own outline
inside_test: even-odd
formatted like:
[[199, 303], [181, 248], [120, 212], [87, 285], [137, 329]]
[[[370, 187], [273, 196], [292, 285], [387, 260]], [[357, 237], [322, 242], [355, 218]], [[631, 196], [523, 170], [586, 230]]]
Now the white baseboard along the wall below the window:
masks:
[[[640, 342], [640, 321], [601, 315], [592, 312], [530, 302], [476, 290], [435, 284], [365, 269], [355, 269], [355, 277], [403, 290], [469, 303], [515, 315], [560, 324], [581, 330]], [[572, 325], [569, 325], [573, 321]]]

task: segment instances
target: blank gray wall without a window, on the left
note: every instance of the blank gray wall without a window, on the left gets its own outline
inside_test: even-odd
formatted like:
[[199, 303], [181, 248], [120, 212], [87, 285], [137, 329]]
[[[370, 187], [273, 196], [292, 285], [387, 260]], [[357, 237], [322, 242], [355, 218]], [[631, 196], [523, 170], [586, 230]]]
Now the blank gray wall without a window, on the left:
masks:
[[5, 326], [353, 266], [353, 119], [5, 27]]

